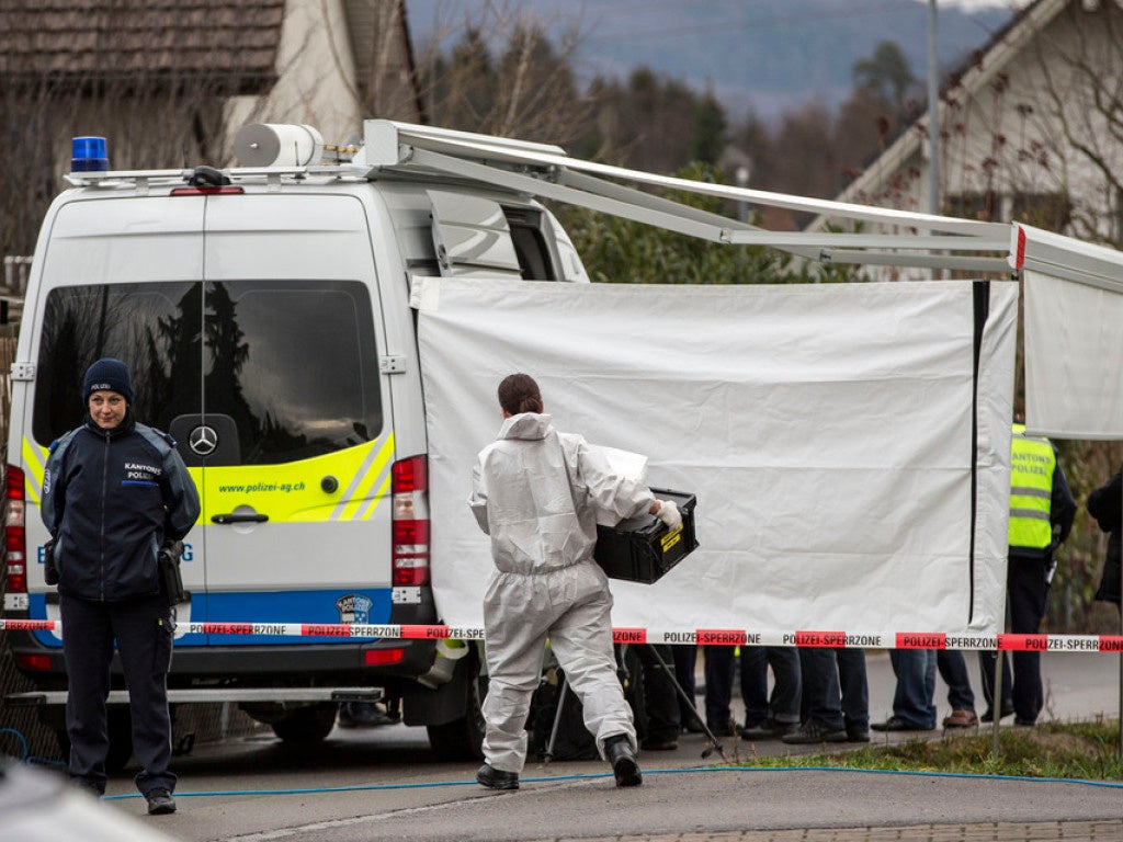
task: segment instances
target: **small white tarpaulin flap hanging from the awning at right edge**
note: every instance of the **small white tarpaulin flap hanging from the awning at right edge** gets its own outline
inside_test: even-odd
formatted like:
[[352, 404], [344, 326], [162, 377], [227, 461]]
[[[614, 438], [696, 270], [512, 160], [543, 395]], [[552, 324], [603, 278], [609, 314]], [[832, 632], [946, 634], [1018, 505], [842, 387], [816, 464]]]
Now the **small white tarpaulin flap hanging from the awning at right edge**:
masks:
[[1123, 439], [1123, 294], [1025, 277], [1025, 423], [1066, 439]]

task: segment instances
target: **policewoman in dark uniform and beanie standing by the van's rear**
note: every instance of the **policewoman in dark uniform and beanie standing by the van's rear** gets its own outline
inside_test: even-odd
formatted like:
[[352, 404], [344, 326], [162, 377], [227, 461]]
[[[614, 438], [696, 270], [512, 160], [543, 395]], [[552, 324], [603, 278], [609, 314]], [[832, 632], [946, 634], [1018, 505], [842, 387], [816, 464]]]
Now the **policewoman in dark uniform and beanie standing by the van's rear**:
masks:
[[175, 812], [166, 684], [175, 629], [157, 555], [194, 525], [199, 494], [171, 437], [133, 418], [133, 397], [122, 361], [90, 366], [82, 385], [89, 418], [52, 445], [42, 511], [58, 576], [71, 779], [104, 793], [116, 639], [143, 766], [136, 785], [148, 813], [163, 814]]

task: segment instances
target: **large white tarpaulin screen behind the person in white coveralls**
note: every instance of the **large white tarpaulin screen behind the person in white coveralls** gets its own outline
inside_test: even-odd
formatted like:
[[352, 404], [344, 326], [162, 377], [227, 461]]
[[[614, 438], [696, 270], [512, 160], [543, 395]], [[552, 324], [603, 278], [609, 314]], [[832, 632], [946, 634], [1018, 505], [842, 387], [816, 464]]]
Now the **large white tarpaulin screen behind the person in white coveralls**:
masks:
[[1015, 284], [417, 283], [446, 622], [482, 624], [471, 469], [496, 385], [527, 372], [558, 429], [697, 495], [701, 549], [654, 585], [614, 580], [613, 625], [998, 628]]

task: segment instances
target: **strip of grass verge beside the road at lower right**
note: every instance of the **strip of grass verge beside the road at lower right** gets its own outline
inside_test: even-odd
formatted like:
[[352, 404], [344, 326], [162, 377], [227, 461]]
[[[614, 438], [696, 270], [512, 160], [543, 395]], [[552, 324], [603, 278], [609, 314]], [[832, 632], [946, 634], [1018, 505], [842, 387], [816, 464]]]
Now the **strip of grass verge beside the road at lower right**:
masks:
[[988, 729], [947, 732], [934, 740], [798, 754], [739, 759], [754, 768], [828, 766], [839, 769], [1003, 775], [1031, 778], [1123, 780], [1120, 763], [1120, 725], [1116, 721], [1041, 723], [1034, 727], [1003, 729], [998, 756], [992, 754]]

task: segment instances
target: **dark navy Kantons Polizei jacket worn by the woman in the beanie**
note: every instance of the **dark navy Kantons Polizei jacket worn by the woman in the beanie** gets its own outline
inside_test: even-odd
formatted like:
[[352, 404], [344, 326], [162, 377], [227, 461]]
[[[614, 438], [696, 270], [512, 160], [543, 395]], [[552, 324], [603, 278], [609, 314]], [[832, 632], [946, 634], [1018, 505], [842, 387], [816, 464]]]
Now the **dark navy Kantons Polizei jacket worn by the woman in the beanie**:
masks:
[[55, 539], [58, 593], [119, 602], [159, 593], [156, 553], [199, 518], [199, 493], [172, 439], [127, 413], [92, 420], [51, 447], [43, 522]]

